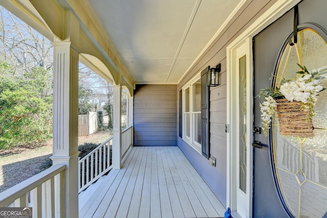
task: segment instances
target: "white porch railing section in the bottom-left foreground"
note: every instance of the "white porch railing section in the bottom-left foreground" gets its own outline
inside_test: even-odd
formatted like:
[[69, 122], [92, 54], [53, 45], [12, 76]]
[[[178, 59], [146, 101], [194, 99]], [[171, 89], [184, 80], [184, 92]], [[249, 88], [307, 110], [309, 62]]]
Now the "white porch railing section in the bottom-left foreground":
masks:
[[0, 193], [0, 207], [33, 207], [33, 217], [63, 217], [65, 165], [56, 164]]

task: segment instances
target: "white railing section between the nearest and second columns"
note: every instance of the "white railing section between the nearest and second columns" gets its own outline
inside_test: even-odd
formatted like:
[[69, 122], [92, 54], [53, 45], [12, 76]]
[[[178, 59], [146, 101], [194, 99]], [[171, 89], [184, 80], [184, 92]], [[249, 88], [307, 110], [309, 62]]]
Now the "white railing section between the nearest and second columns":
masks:
[[78, 161], [78, 193], [112, 169], [112, 139], [110, 137]]

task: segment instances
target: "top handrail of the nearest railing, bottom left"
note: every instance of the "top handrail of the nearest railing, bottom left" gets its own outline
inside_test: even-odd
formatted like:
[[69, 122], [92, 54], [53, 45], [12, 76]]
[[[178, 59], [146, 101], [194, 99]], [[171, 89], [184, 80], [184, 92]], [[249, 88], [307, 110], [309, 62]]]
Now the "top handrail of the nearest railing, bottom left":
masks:
[[37, 186], [41, 185], [45, 181], [48, 181], [58, 173], [66, 169], [66, 165], [56, 164], [48, 169], [43, 170], [37, 175], [22, 181], [21, 183], [3, 191], [0, 193], [0, 207], [5, 207], [12, 203], [22, 195], [33, 190]]

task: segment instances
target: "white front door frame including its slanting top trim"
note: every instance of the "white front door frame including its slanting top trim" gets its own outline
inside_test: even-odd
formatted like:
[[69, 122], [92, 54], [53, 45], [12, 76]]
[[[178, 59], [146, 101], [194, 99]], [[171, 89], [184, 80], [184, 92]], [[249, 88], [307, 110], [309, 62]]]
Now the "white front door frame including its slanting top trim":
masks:
[[[273, 4], [265, 13], [263, 13], [258, 19], [256, 19], [240, 36], [233, 40], [229, 46], [227, 46], [227, 124], [229, 125], [229, 132], [227, 133], [227, 169], [226, 169], [226, 206], [230, 207], [232, 211], [237, 211], [236, 208], [236, 149], [235, 145], [238, 144], [238, 110], [235, 107], [235, 103], [239, 101], [238, 91], [239, 84], [236, 71], [236, 51], [237, 49], [244, 45], [247, 46], [247, 92], [248, 102], [247, 102], [247, 121], [248, 127], [248, 141], [247, 148], [250, 153], [249, 159], [247, 159], [247, 178], [249, 184], [247, 184], [247, 190], [252, 192], [252, 78], [253, 78], [253, 64], [252, 64], [252, 37], [262, 31], [265, 27], [273, 23], [277, 18], [281, 17], [288, 10], [293, 8], [300, 0], [278, 0]], [[247, 202], [249, 207], [246, 217], [252, 216], [252, 193], [249, 194]]]

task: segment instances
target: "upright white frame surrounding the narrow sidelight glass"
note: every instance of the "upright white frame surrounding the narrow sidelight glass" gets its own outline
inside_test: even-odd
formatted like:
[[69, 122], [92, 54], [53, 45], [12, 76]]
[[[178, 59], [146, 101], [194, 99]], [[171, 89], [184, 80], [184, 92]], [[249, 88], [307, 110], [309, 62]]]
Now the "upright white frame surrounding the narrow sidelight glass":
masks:
[[[242, 53], [240, 54], [240, 49], [242, 47]], [[239, 92], [240, 92], [240, 79], [239, 79], [239, 70], [238, 70], [238, 60], [240, 56], [246, 55], [246, 108], [247, 108], [247, 115], [246, 115], [246, 132], [247, 132], [247, 138], [246, 138], [246, 147], [247, 147], [247, 158], [246, 158], [246, 190], [247, 194], [244, 199], [246, 199], [246, 202], [244, 202], [245, 207], [248, 208], [246, 211], [246, 217], [250, 217], [252, 214], [252, 105], [253, 105], [253, 84], [252, 84], [252, 48], [251, 48], [251, 41], [249, 38], [242, 41], [238, 45], [238, 47], [235, 47], [231, 50], [231, 69], [229, 73], [229, 105], [227, 106], [227, 118], [229, 123], [229, 137], [227, 138], [227, 155], [229, 158], [227, 160], [229, 163], [227, 163], [227, 167], [229, 166], [229, 170], [227, 170], [227, 175], [229, 176], [229, 186], [227, 186], [227, 189], [229, 188], [229, 207], [231, 210], [238, 211], [237, 208], [237, 190], [238, 190], [238, 173], [239, 173], [239, 146], [240, 146], [240, 106], [239, 106]], [[229, 149], [228, 149], [229, 148]], [[229, 154], [228, 154], [229, 151]], [[228, 173], [229, 172], [229, 173]], [[228, 178], [227, 178], [228, 179]], [[227, 183], [228, 185], [228, 183]], [[227, 193], [228, 196], [228, 193]], [[241, 214], [241, 213], [240, 213]]]

